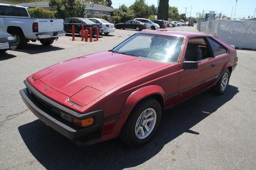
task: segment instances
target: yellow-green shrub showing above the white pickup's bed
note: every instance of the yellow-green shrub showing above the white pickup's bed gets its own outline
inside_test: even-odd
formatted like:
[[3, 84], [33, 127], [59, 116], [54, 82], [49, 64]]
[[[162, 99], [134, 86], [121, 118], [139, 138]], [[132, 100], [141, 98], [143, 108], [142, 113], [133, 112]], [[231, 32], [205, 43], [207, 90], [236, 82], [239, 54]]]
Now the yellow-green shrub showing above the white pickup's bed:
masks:
[[44, 8], [29, 8], [28, 12], [32, 18], [55, 18], [55, 11], [45, 10]]

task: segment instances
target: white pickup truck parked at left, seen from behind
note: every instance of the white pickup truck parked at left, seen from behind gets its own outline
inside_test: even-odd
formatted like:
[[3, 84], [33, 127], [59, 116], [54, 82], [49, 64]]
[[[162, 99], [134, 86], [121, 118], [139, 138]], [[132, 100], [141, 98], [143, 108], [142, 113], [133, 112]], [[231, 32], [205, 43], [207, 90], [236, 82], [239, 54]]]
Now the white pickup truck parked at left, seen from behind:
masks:
[[51, 45], [58, 37], [66, 35], [63, 19], [30, 18], [25, 7], [9, 4], [0, 4], [0, 31], [12, 34], [17, 39], [18, 48], [36, 40]]

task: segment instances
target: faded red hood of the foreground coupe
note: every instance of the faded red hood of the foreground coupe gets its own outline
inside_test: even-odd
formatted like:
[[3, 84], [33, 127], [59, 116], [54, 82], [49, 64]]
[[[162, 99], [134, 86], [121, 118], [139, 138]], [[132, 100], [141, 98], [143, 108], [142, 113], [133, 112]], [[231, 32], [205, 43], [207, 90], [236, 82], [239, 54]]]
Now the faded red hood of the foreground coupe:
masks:
[[137, 57], [101, 52], [58, 63], [32, 77], [72, 96], [86, 87], [104, 93], [165, 65], [167, 64]]

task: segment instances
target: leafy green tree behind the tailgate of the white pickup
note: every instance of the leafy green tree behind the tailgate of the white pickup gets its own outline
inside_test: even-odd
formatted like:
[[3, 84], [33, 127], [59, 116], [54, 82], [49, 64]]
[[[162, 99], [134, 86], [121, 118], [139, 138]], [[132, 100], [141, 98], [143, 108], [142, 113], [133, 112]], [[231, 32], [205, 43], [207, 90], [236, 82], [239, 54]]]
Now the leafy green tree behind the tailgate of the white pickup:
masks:
[[83, 0], [50, 0], [49, 5], [56, 9], [57, 18], [84, 17]]

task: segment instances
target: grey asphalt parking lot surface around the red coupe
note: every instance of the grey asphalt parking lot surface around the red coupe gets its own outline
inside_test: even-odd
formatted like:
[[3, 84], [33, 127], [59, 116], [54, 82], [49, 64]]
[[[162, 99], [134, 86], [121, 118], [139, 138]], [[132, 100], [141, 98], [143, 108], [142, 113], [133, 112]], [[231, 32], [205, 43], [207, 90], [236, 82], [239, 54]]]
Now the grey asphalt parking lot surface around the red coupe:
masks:
[[[170, 30], [196, 32], [195, 27]], [[225, 94], [205, 91], [165, 114], [141, 148], [119, 139], [79, 147], [37, 119], [19, 90], [37, 70], [110, 50], [136, 31], [116, 30], [97, 42], [61, 37], [51, 47], [29, 43], [0, 57], [0, 169], [256, 169], [256, 51], [239, 61]]]

